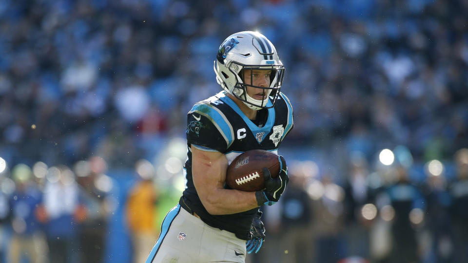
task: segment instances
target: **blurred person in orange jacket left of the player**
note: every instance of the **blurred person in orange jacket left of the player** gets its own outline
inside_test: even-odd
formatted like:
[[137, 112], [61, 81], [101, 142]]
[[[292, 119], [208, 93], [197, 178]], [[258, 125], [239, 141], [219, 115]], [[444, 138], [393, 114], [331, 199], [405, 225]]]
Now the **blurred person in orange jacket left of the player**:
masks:
[[132, 233], [134, 263], [144, 262], [154, 246], [159, 225], [157, 221], [158, 192], [153, 182], [154, 169], [148, 161], [136, 165], [137, 182], [128, 194], [127, 224]]

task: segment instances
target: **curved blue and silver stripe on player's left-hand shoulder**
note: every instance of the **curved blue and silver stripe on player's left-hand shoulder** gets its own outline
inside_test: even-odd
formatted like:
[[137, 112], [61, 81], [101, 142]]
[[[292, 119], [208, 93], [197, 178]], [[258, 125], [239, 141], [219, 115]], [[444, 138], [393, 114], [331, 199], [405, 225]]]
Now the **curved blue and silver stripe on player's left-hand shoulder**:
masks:
[[[190, 113], [198, 113], [207, 117], [226, 141], [227, 148], [234, 142], [234, 130], [226, 116], [211, 104], [195, 104]], [[226, 148], [226, 149], [227, 149]]]

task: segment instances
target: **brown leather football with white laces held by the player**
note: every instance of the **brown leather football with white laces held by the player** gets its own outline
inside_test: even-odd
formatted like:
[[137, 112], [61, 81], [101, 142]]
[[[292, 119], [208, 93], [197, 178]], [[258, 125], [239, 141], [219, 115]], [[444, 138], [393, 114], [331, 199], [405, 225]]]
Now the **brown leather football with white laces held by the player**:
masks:
[[265, 188], [263, 168], [273, 178], [278, 176], [279, 156], [267, 150], [249, 150], [237, 156], [228, 166], [226, 184], [237, 190], [254, 192]]

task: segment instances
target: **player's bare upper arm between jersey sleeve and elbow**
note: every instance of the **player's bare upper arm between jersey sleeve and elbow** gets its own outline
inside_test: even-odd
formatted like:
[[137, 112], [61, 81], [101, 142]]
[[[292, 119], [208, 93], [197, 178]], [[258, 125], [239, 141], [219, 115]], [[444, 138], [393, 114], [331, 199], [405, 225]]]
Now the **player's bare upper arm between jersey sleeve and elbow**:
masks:
[[210, 205], [210, 196], [224, 188], [228, 160], [224, 153], [208, 151], [192, 144], [192, 177], [201, 202]]

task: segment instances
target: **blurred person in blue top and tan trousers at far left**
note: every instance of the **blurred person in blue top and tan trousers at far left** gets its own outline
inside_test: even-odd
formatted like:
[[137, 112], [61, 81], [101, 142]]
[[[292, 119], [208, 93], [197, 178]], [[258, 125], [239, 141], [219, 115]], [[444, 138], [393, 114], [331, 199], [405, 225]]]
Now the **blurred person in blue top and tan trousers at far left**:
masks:
[[16, 189], [11, 195], [11, 226], [9, 260], [20, 263], [25, 257], [31, 263], [45, 263], [48, 247], [42, 231], [44, 212], [41, 209], [42, 193], [32, 178], [32, 171], [25, 164], [16, 165], [12, 171]]

